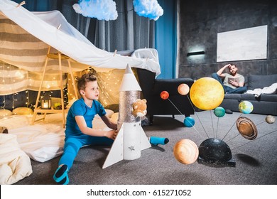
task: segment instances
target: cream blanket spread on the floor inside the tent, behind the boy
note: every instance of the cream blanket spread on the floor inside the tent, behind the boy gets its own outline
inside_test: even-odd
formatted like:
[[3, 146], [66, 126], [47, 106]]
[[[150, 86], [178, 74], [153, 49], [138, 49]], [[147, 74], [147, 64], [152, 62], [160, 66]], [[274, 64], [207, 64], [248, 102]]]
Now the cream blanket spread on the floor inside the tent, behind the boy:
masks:
[[[106, 109], [107, 117], [114, 112]], [[39, 115], [38, 119], [43, 117]], [[9, 134], [16, 135], [16, 139], [23, 150], [34, 161], [45, 162], [63, 154], [65, 129], [63, 129], [61, 113], [48, 114], [45, 120], [31, 124], [31, 116], [12, 115], [0, 119], [0, 127], [6, 127]], [[99, 115], [92, 122], [94, 129], [109, 130]]]

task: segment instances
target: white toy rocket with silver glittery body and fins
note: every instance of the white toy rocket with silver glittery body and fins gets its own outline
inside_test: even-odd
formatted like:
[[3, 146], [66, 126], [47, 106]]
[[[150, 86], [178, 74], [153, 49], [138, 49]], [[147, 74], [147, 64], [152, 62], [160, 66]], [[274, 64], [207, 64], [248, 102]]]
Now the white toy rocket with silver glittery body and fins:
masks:
[[132, 104], [141, 97], [141, 87], [129, 64], [119, 87], [119, 133], [102, 168], [111, 166], [121, 160], [134, 160], [141, 157], [141, 151], [151, 147], [141, 127], [141, 118], [132, 114]]

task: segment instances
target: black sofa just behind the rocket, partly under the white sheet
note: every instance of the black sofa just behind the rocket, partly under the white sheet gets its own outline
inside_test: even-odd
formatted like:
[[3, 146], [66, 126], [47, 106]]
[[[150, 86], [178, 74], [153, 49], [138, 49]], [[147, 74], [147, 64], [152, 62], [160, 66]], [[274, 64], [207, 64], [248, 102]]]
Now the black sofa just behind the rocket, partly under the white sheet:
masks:
[[[149, 70], [136, 68], [136, 75], [142, 90], [142, 97], [147, 100], [147, 116], [150, 124], [153, 124], [154, 115], [183, 114], [185, 117], [195, 113], [190, 103], [189, 94], [180, 95], [178, 86], [186, 84], [192, 86], [191, 78], [156, 79], [156, 73]], [[168, 99], [161, 99], [161, 92], [169, 93]], [[171, 102], [172, 103], [171, 103]]]

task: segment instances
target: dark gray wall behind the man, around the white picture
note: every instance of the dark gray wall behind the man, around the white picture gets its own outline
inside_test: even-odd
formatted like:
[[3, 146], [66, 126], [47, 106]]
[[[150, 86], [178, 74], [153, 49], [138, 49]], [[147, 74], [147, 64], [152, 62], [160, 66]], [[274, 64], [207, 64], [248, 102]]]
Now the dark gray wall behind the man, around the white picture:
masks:
[[[210, 77], [227, 63], [217, 63], [217, 33], [268, 25], [266, 60], [232, 61], [241, 75], [277, 73], [277, 1], [180, 1], [179, 77]], [[187, 57], [192, 48], [205, 55]]]

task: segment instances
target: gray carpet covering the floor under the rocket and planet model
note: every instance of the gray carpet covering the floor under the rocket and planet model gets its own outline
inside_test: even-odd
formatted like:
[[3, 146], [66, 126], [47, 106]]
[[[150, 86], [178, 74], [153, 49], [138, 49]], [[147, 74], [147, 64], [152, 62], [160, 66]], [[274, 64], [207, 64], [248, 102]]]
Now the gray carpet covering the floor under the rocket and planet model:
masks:
[[[240, 116], [248, 117], [256, 124], [259, 132], [255, 140], [244, 139], [237, 131], [235, 122]], [[120, 161], [102, 169], [109, 149], [102, 146], [87, 146], [80, 149], [69, 173], [70, 184], [277, 184], [277, 122], [267, 124], [264, 122], [265, 115], [239, 112], [217, 118], [212, 111], [205, 111], [196, 112], [192, 117], [195, 119], [195, 126], [191, 128], [184, 127], [182, 115], [175, 116], [175, 119], [170, 116], [154, 117], [152, 126], [143, 127], [146, 135], [168, 137], [170, 141], [165, 146], [152, 146], [141, 151], [141, 158], [134, 161]], [[268, 134], [272, 131], [274, 132]], [[173, 146], [177, 141], [190, 139], [200, 146], [202, 141], [207, 139], [207, 135], [217, 136], [218, 139], [223, 139], [225, 136], [224, 141], [232, 150], [235, 167], [202, 164], [197, 161], [185, 165], [175, 159]], [[45, 163], [32, 161], [31, 176], [23, 178], [16, 184], [55, 184], [53, 173], [58, 166], [59, 158]]]

